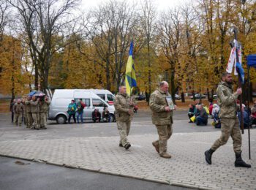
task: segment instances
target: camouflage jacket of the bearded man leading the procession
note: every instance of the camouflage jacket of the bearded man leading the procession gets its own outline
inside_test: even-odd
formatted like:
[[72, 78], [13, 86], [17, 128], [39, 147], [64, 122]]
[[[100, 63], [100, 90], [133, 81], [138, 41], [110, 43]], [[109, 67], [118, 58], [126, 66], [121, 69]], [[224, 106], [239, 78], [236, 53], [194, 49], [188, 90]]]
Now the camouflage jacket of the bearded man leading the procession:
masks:
[[217, 101], [220, 107], [219, 118], [236, 118], [236, 99], [238, 94], [233, 93], [232, 86], [220, 82], [217, 88]]

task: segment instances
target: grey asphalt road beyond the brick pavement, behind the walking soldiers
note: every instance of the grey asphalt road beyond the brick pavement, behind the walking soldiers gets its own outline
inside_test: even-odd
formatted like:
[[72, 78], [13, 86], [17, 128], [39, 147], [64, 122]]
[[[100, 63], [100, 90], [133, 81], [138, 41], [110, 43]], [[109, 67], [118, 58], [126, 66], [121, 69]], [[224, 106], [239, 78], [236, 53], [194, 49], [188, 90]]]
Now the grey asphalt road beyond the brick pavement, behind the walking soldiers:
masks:
[[[0, 140], [29, 140], [29, 139], [56, 139], [64, 137], [113, 137], [118, 136], [116, 123], [72, 123], [59, 125], [56, 121], [49, 121], [47, 130], [26, 129], [25, 126], [16, 127], [10, 122], [10, 114], [0, 115]], [[173, 133], [187, 132], [215, 132], [211, 126], [211, 119], [208, 126], [196, 126], [195, 123], [188, 123], [186, 111], [174, 113]], [[36, 135], [35, 135], [36, 134]], [[130, 135], [135, 134], [157, 134], [157, 129], [151, 122], [150, 112], [139, 112], [132, 121]]]

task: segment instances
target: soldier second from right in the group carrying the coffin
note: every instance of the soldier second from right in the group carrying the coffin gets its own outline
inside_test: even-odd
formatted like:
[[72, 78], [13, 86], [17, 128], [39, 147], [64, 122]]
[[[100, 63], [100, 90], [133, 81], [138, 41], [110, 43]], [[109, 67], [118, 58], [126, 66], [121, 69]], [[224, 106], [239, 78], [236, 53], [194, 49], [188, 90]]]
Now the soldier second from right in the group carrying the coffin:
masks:
[[39, 98], [37, 98], [37, 96], [32, 96], [30, 104], [31, 104], [31, 113], [33, 118], [33, 127], [31, 129], [39, 130], [39, 119], [40, 119]]

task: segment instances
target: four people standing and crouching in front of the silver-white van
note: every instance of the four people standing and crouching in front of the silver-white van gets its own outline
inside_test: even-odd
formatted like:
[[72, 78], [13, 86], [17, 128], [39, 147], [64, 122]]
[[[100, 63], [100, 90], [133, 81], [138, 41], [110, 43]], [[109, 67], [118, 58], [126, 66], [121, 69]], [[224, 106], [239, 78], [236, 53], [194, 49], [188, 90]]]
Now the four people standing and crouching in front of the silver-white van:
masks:
[[[75, 123], [83, 123], [83, 110], [86, 107], [86, 104], [83, 102], [83, 99], [79, 99], [78, 103], [75, 103], [75, 100], [72, 99], [71, 103], [67, 107], [67, 113], [69, 114], [68, 123], [70, 123], [71, 118], [73, 118]], [[80, 118], [80, 120], [79, 120]], [[105, 107], [102, 115], [99, 113], [99, 109], [95, 109], [91, 113], [91, 118], [95, 122], [100, 122], [103, 120], [104, 122], [111, 122], [111, 116], [110, 112], [108, 111], [108, 108]]]

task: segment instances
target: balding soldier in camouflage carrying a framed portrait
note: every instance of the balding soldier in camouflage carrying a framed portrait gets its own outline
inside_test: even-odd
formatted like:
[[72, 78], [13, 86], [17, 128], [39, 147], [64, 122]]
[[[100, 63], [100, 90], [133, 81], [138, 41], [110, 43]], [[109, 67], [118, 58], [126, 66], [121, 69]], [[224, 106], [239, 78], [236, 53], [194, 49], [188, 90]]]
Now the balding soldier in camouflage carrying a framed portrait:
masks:
[[159, 84], [159, 88], [154, 91], [149, 99], [149, 106], [152, 111], [152, 122], [157, 127], [159, 140], [152, 142], [152, 145], [159, 153], [159, 156], [170, 159], [171, 156], [167, 153], [167, 140], [173, 133], [173, 110], [167, 104], [166, 96], [168, 93], [169, 85], [166, 81]]

